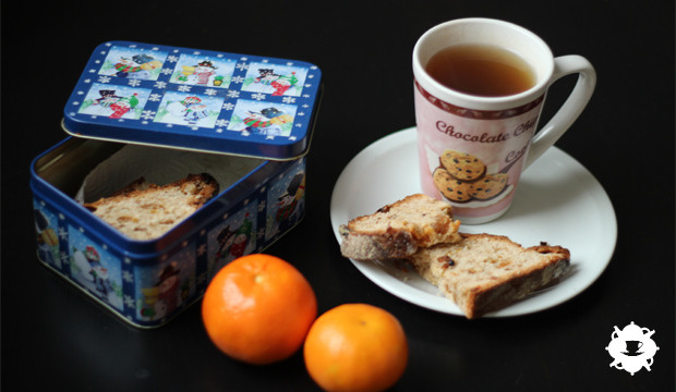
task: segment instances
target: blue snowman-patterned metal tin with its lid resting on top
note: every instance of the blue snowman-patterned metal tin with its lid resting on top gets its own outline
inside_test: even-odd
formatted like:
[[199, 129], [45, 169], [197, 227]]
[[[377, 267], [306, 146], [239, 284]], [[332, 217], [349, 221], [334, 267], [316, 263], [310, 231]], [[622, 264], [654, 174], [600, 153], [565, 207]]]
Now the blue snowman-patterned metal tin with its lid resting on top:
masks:
[[[298, 81], [274, 83], [288, 75]], [[166, 323], [202, 297], [222, 266], [263, 252], [301, 221], [319, 83], [319, 70], [304, 62], [99, 46], [65, 107], [63, 127], [82, 137], [65, 138], [31, 166], [38, 258], [132, 326]], [[200, 102], [205, 111], [191, 112]], [[136, 241], [76, 200], [88, 173], [134, 144], [218, 152], [248, 169], [162, 236]]]

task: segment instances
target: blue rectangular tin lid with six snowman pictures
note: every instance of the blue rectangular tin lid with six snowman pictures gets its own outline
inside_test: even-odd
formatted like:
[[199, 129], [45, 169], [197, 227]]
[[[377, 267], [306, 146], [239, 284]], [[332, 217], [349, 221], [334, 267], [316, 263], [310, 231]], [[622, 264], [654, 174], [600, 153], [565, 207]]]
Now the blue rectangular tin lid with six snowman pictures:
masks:
[[99, 45], [64, 109], [80, 137], [275, 160], [304, 155], [321, 95], [311, 63], [130, 41]]

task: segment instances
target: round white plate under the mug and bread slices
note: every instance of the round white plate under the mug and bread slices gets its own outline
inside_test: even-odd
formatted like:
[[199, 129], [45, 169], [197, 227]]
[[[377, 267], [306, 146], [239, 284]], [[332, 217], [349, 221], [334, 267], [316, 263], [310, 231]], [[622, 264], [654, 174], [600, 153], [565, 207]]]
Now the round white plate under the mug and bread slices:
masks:
[[[340, 224], [414, 193], [421, 188], [415, 127], [410, 127], [373, 143], [345, 168], [331, 195], [336, 238], [340, 242]], [[617, 240], [617, 220], [607, 194], [584, 167], [556, 147], [523, 172], [515, 201], [503, 217], [484, 224], [461, 225], [460, 230], [507, 235], [523, 246], [544, 241], [570, 250], [570, 272], [558, 284], [485, 317], [526, 315], [572, 298], [603, 273]], [[402, 299], [462, 315], [411, 268], [351, 261], [375, 284]]]

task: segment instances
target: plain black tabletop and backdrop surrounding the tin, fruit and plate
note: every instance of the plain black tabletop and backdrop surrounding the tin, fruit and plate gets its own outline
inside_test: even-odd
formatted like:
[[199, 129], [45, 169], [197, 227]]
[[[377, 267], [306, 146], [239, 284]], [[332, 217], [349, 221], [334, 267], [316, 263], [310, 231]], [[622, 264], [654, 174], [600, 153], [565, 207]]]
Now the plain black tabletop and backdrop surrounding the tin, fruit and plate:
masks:
[[[2, 387], [316, 390], [300, 353], [265, 367], [222, 355], [204, 331], [198, 306], [162, 328], [137, 330], [38, 262], [31, 160], [64, 138], [63, 105], [90, 51], [107, 40], [134, 40], [321, 66], [325, 94], [307, 156], [306, 217], [266, 252], [301, 270], [316, 291], [319, 313], [361, 302], [399, 318], [410, 358], [395, 390], [674, 390], [673, 2], [366, 3], [3, 2]], [[399, 299], [340, 256], [331, 230], [330, 194], [349, 160], [414, 124], [417, 38], [467, 16], [520, 24], [555, 56], [584, 56], [599, 75], [590, 105], [557, 146], [607, 192], [617, 246], [589, 289], [527, 316], [469, 321]], [[550, 107], [560, 105], [571, 82], [552, 89]], [[633, 376], [611, 367], [605, 350], [614, 327], [631, 321], [654, 330], [660, 347], [652, 370]]]

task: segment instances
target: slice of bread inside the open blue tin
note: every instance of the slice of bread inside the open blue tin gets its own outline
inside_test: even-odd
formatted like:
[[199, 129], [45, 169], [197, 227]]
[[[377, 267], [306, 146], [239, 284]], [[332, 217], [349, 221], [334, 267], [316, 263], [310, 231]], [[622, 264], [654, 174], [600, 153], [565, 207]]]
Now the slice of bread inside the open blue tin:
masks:
[[85, 207], [131, 238], [153, 240], [195, 212], [218, 188], [209, 174], [190, 174], [162, 186], [138, 179]]

